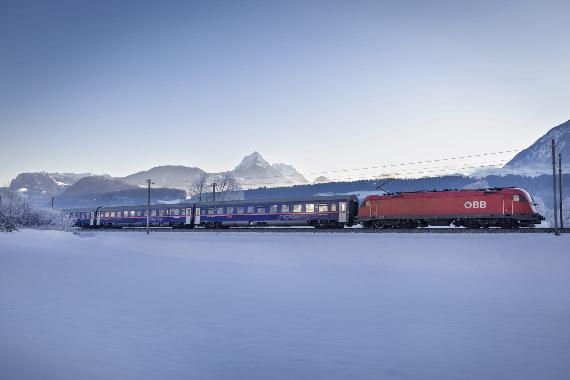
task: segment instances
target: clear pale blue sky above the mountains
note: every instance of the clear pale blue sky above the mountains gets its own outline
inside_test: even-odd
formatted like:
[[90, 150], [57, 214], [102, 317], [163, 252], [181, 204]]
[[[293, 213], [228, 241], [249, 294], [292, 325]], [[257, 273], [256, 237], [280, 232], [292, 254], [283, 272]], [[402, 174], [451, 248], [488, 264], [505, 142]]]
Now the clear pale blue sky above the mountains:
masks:
[[570, 119], [569, 19], [568, 1], [4, 0], [0, 182], [526, 148]]

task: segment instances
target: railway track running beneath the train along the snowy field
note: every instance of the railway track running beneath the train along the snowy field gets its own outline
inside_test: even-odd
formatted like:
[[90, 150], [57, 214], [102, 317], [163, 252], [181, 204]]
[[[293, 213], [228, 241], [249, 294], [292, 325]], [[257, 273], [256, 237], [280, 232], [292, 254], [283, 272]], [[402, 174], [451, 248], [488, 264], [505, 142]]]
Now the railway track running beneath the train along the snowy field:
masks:
[[[146, 231], [145, 228], [99, 228], [93, 230], [84, 230], [83, 228], [74, 228], [75, 231], [93, 231], [93, 232], [141, 232]], [[400, 229], [400, 228], [386, 228], [381, 230], [376, 230], [374, 228], [343, 228], [340, 230], [329, 230], [321, 228], [227, 228], [222, 230], [206, 229], [206, 228], [193, 228], [193, 229], [179, 229], [179, 228], [150, 228], [152, 232], [182, 232], [182, 233], [192, 233], [192, 232], [206, 232], [209, 234], [219, 234], [219, 232], [229, 232], [229, 233], [246, 233], [246, 232], [257, 232], [258, 234], [268, 234], [268, 233], [295, 233], [295, 234], [553, 234], [554, 228], [551, 227], [536, 227], [536, 228], [477, 228], [470, 230], [469, 228], [462, 227], [427, 227], [427, 228], [410, 228], [410, 229]], [[570, 228], [559, 228], [558, 231], [561, 234], [570, 233]]]

